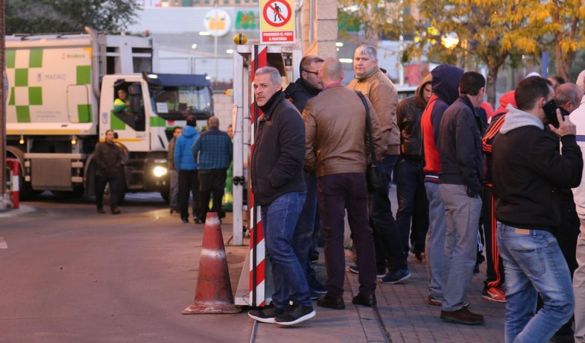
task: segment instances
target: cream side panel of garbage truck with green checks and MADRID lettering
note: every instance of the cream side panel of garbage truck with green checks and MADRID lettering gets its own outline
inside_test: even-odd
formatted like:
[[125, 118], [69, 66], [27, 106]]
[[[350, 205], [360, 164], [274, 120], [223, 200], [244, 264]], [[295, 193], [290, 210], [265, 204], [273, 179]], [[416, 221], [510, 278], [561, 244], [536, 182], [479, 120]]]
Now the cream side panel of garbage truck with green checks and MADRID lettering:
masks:
[[[50, 53], [47, 53], [49, 50]], [[89, 94], [91, 88], [89, 52], [91, 50], [88, 48], [6, 49], [6, 74], [10, 92], [6, 108], [8, 120], [29, 123], [40, 118], [40, 122], [44, 122], [43, 119], [48, 118], [46, 114], [59, 115], [55, 111], [55, 104], [66, 104], [61, 110], [64, 119], [67, 120], [68, 116], [70, 122], [92, 122], [91, 97], [80, 96]], [[74, 74], [67, 74], [60, 66], [71, 66], [71, 63], [74, 64]], [[88, 92], [74, 91], [70, 86], [87, 87]]]

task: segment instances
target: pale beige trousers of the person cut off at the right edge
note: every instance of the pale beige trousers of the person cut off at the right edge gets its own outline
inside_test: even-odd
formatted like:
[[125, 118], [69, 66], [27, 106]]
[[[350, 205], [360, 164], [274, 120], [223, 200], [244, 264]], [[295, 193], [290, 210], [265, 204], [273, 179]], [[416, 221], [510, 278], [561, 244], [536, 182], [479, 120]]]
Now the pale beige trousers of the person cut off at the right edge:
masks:
[[583, 224], [581, 224], [581, 234], [577, 239], [577, 263], [579, 267], [573, 274], [575, 342], [585, 342], [585, 226]]

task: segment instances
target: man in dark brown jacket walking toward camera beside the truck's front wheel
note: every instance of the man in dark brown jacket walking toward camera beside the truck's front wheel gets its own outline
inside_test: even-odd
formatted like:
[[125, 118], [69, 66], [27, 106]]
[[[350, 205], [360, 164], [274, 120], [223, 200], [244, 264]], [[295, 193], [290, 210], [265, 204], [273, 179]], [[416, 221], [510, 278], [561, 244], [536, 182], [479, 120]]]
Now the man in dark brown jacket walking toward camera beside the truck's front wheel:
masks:
[[104, 190], [106, 184], [110, 186], [110, 209], [112, 214], [120, 213], [118, 208], [118, 175], [122, 166], [122, 154], [118, 146], [113, 142], [113, 138], [113, 131], [106, 131], [105, 142], [98, 143], [94, 151], [93, 161], [98, 166], [95, 171], [95, 204], [100, 214], [105, 213]]

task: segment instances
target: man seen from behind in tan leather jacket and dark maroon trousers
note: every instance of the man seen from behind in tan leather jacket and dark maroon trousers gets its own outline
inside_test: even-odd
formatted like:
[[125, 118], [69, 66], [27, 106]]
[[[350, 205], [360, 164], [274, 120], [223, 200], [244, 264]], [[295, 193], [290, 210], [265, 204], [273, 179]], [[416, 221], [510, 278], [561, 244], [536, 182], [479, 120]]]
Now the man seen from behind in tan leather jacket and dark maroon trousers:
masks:
[[[368, 225], [366, 164], [369, 157], [366, 108], [359, 95], [343, 87], [343, 69], [338, 60], [326, 59], [319, 71], [323, 91], [307, 102], [305, 121], [307, 149], [305, 169], [317, 175], [319, 213], [325, 232], [327, 294], [317, 301], [322, 307], [342, 310], [345, 258], [343, 214], [347, 216], [359, 256], [360, 288], [352, 303], [376, 304], [376, 260]], [[367, 101], [367, 100], [366, 100]], [[380, 125], [367, 101], [376, 159], [381, 160]]]

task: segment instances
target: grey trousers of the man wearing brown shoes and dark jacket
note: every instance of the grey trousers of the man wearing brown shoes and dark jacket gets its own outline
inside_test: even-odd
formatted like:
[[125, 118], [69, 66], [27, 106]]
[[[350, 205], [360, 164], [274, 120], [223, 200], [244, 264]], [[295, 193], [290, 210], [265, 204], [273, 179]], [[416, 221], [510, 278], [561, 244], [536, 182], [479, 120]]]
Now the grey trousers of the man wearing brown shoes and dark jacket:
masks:
[[465, 186], [439, 184], [445, 203], [447, 231], [443, 255], [443, 311], [463, 308], [477, 259], [477, 225], [481, 197], [468, 197]]

